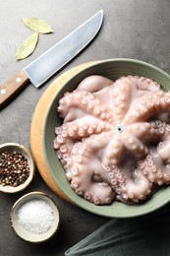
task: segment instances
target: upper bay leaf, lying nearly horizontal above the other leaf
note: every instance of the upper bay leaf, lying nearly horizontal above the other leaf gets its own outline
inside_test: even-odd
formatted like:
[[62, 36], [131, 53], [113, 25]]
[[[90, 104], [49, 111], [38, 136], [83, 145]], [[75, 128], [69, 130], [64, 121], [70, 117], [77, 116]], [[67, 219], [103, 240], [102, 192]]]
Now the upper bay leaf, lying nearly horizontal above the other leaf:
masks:
[[40, 33], [53, 32], [52, 27], [41, 19], [25, 18], [25, 19], [22, 19], [22, 21], [33, 32], [40, 32]]

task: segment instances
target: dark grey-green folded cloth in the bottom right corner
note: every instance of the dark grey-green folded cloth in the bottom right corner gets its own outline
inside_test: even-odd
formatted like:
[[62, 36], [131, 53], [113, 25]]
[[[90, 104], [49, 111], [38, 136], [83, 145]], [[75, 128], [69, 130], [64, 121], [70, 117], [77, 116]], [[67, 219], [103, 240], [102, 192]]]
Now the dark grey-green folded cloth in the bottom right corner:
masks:
[[112, 219], [65, 255], [169, 256], [170, 207], [138, 218]]

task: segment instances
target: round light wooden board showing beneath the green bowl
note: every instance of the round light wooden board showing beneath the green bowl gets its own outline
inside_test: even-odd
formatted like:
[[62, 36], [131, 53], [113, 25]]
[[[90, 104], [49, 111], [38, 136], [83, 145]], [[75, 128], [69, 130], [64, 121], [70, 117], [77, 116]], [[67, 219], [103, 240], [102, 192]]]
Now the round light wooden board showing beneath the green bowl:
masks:
[[48, 105], [56, 93], [56, 91], [74, 74], [81, 71], [83, 68], [89, 66], [94, 62], [85, 63], [82, 65], [79, 65], [60, 77], [58, 77], [44, 92], [44, 94], [40, 97], [35, 110], [33, 112], [33, 116], [31, 119], [31, 125], [30, 125], [30, 148], [31, 153], [33, 156], [33, 159], [35, 160], [37, 169], [43, 178], [43, 180], [46, 182], [46, 184], [59, 196], [61, 196], [63, 199], [67, 200], [68, 202], [72, 203], [70, 199], [66, 197], [66, 195], [58, 188], [56, 183], [53, 181], [49, 170], [46, 166], [44, 156], [43, 156], [43, 150], [42, 150], [42, 126], [43, 121], [45, 117], [46, 110], [48, 108]]

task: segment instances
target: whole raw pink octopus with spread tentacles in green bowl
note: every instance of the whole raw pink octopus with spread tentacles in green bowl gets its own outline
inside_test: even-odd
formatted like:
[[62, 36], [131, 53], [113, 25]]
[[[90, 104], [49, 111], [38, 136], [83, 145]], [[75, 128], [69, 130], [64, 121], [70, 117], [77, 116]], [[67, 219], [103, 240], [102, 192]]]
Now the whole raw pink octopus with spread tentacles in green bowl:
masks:
[[78, 195], [138, 203], [170, 182], [170, 92], [149, 78], [86, 77], [60, 100], [54, 149]]

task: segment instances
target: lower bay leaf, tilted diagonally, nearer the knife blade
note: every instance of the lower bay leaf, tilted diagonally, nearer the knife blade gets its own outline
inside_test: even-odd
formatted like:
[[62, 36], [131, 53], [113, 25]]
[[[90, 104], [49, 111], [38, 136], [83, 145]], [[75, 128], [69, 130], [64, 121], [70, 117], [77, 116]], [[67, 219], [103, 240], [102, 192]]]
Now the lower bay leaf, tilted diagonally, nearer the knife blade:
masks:
[[38, 32], [31, 33], [26, 40], [24, 40], [16, 51], [16, 59], [25, 59], [30, 55], [38, 41]]

